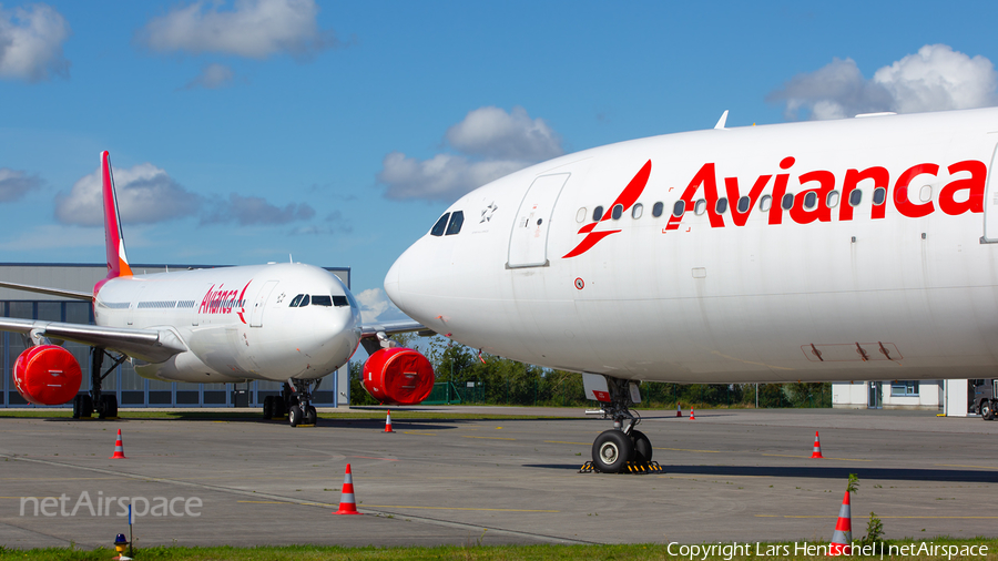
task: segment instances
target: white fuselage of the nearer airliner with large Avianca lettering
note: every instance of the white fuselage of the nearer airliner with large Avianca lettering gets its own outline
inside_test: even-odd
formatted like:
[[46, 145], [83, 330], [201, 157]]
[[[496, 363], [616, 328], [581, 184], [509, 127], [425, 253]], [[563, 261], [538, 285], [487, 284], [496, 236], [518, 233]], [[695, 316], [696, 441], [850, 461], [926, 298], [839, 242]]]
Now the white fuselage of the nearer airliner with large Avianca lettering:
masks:
[[987, 109], [587, 150], [461, 197], [385, 288], [465, 345], [623, 379], [994, 377], [996, 145]]

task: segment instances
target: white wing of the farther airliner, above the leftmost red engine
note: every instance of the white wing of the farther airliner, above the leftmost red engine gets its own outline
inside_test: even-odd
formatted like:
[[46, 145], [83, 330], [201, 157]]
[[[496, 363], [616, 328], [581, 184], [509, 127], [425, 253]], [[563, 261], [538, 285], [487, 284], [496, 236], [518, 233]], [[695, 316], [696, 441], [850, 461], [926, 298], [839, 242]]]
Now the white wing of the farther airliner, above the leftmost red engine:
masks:
[[0, 317], [0, 330], [104, 347], [146, 363], [162, 363], [187, 350], [180, 337], [166, 328], [130, 329]]

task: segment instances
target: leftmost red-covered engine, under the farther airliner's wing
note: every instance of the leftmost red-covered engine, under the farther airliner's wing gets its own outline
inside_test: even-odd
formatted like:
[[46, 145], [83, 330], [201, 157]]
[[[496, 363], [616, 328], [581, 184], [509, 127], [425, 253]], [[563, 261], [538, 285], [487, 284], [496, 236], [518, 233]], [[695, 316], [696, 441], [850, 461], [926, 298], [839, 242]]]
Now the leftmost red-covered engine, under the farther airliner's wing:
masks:
[[30, 404], [62, 405], [80, 391], [83, 371], [69, 350], [39, 345], [21, 353], [14, 363], [14, 387]]

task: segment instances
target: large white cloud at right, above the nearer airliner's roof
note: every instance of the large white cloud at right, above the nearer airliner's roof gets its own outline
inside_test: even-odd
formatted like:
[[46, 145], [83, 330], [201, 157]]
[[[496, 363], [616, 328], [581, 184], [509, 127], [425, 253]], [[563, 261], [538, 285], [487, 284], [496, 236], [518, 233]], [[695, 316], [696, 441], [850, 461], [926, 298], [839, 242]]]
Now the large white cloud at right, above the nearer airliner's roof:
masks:
[[945, 44], [927, 44], [863, 78], [852, 59], [834, 59], [792, 78], [767, 101], [784, 102], [785, 116], [843, 119], [859, 113], [915, 113], [998, 104], [998, 73], [981, 55], [968, 57]]

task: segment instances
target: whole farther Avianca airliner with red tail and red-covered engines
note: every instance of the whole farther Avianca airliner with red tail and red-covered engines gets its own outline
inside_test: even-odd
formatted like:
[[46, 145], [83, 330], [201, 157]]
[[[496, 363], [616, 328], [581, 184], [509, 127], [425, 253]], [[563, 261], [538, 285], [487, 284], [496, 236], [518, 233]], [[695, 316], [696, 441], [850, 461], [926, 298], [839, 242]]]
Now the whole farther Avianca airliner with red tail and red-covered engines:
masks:
[[[101, 153], [101, 176], [108, 277], [93, 293], [0, 283], [93, 303], [96, 325], [0, 318], [0, 329], [30, 339], [13, 373], [14, 386], [28, 401], [72, 399], [74, 417], [90, 417], [94, 409], [102, 418], [116, 417], [116, 397], [101, 392], [101, 380], [131, 359], [135, 371], [151, 379], [283, 381], [281, 396], [264, 399], [264, 418], [286, 414], [293, 427], [315, 424], [313, 389], [361, 343], [371, 355], [365, 386], [381, 401], [415, 404], [429, 394], [429, 361], [387, 338], [421, 326], [364, 325], [354, 295], [323, 268], [287, 263], [132, 274], [108, 152]], [[92, 346], [89, 392], [78, 395], [82, 369], [68, 350], [52, 344], [61, 340]], [[105, 356], [114, 361], [106, 371]]]

